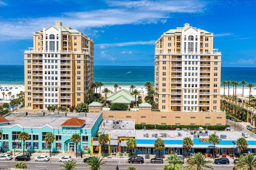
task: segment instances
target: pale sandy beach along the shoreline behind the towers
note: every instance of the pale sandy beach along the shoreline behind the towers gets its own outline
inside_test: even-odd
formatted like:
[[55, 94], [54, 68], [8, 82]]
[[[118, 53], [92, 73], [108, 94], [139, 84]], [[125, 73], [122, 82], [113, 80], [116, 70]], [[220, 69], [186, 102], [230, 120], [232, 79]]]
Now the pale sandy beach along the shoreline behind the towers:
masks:
[[[12, 87], [12, 88], [10, 88], [10, 87]], [[102, 86], [101, 88], [97, 89], [97, 93], [99, 93], [100, 90], [102, 91], [102, 89], [104, 89], [106, 87], [114, 93], [114, 90], [115, 90], [114, 86]], [[130, 90], [130, 87], [129, 86], [120, 86], [116, 90], [119, 91], [121, 89]], [[134, 89], [137, 89], [138, 91], [140, 91], [140, 94], [143, 96], [146, 96], [146, 94], [147, 94], [146, 88], [144, 86], [136, 86]], [[18, 93], [20, 93], [20, 91], [24, 91], [24, 86], [22, 86], [22, 85], [15, 85], [15, 86], [14, 85], [0, 85], [0, 99], [3, 99], [2, 93], [4, 92], [5, 93], [4, 101], [10, 102], [10, 96], [8, 95], [8, 92], [12, 92], [11, 96], [15, 95], [15, 98], [16, 98], [16, 95]], [[224, 87], [220, 88], [221, 95], [224, 95], [224, 91], [225, 91], [225, 95], [228, 95], [228, 87], [225, 87], [225, 89], [224, 89]], [[229, 87], [229, 95], [233, 95], [233, 87]], [[256, 87], [253, 87], [251, 89], [251, 95], [256, 97]], [[236, 87], [236, 96], [242, 96], [242, 87]], [[244, 97], [249, 97], [249, 88], [248, 87], [244, 87]], [[3, 101], [3, 100], [1, 100], [1, 101]]]

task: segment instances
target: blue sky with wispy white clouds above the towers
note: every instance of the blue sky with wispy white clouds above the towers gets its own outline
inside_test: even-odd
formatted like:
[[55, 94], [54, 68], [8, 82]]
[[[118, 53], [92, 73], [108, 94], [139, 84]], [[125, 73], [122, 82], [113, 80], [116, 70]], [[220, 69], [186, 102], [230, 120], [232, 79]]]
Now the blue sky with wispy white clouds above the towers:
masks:
[[23, 65], [33, 32], [62, 22], [94, 40], [94, 65], [154, 65], [154, 43], [190, 23], [222, 67], [256, 67], [256, 0], [0, 0], [0, 64]]

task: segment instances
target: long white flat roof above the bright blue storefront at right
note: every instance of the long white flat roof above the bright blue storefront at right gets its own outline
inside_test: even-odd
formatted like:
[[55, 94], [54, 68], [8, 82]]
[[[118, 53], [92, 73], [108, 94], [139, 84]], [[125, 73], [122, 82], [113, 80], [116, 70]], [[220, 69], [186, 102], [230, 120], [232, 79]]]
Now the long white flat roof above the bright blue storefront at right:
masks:
[[[193, 132], [196, 131], [196, 134], [199, 134], [199, 130], [193, 130]], [[178, 133], [180, 132], [180, 135]], [[204, 132], [204, 130], [203, 130]], [[157, 134], [157, 137], [160, 137], [162, 139], [166, 140], [183, 140], [184, 137], [190, 137], [194, 138], [194, 134], [190, 134], [190, 131], [185, 130], [136, 130], [136, 139], [156, 139], [155, 134]], [[242, 136], [242, 131], [213, 131], [208, 130], [208, 135], [216, 133], [219, 137], [220, 135], [226, 135], [226, 138], [222, 140], [236, 140]], [[145, 135], [148, 134], [148, 137], [145, 137]], [[153, 136], [152, 136], [153, 134]], [[209, 138], [207, 136], [199, 136], [199, 138]], [[146, 135], [147, 136], [147, 135]], [[256, 140], [253, 136], [249, 136], [246, 138], [246, 140]]]

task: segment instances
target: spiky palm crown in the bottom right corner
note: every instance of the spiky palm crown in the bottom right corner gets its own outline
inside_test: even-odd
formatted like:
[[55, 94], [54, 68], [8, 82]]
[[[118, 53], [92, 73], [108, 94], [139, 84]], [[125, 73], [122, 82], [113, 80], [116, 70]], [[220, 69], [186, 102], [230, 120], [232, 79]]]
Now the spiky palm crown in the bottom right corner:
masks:
[[235, 167], [238, 170], [256, 170], [256, 157], [253, 154], [240, 156]]

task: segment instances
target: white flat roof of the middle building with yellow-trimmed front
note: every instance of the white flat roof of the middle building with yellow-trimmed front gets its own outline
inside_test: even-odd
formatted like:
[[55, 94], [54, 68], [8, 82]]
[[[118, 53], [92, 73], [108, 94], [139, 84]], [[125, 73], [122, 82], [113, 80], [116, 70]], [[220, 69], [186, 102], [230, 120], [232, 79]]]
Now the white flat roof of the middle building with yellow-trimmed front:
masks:
[[118, 139], [118, 136], [134, 136], [134, 119], [103, 119], [98, 133], [110, 134], [111, 139]]

